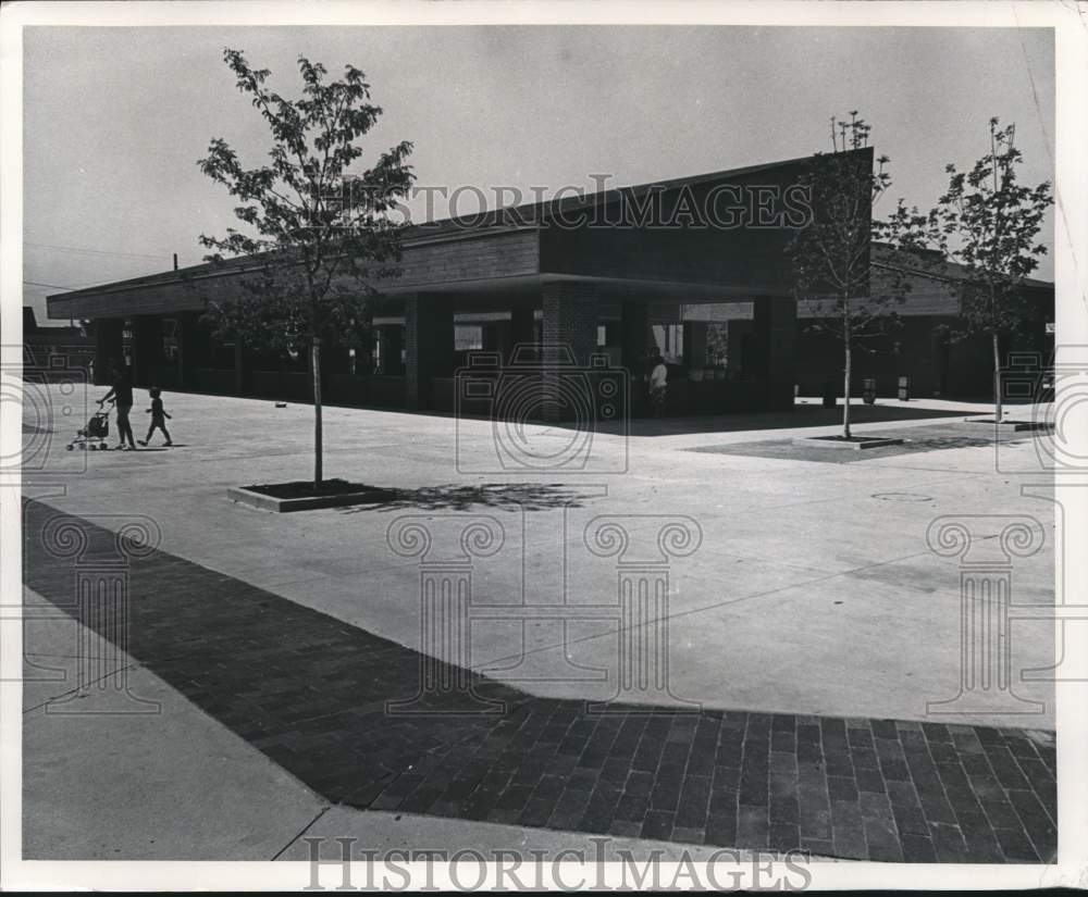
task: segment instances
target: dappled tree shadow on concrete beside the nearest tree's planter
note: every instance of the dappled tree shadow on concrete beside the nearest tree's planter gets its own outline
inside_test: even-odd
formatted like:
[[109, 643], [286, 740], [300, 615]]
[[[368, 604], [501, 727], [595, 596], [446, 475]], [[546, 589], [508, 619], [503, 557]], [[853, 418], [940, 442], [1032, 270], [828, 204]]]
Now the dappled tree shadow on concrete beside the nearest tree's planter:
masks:
[[367, 501], [337, 510], [343, 514], [363, 511], [467, 511], [472, 508], [515, 509], [546, 511], [553, 508], [581, 508], [592, 498], [589, 493], [564, 486], [560, 483], [484, 483], [479, 486], [446, 484], [423, 486], [418, 489], [375, 488]]

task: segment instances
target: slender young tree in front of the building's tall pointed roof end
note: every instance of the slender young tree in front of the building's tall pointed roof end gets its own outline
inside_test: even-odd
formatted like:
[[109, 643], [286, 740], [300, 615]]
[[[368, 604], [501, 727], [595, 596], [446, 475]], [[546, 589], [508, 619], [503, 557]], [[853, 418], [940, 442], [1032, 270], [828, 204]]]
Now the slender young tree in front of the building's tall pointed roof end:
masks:
[[895, 308], [910, 289], [903, 267], [875, 264], [871, 244], [887, 242], [889, 253], [910, 252], [923, 221], [907, 212], [902, 201], [888, 221], [874, 220], [873, 205], [888, 191], [891, 175], [886, 170], [890, 161], [886, 155], [875, 160], [874, 169], [870, 129], [857, 112], [850, 113], [850, 121], [831, 120], [833, 151], [816, 153], [803, 175], [812, 219], [788, 247], [795, 295], [807, 300], [814, 311], [809, 328], [828, 334], [842, 346], [845, 439], [851, 438], [854, 350], [867, 349], [874, 338], [898, 324]]

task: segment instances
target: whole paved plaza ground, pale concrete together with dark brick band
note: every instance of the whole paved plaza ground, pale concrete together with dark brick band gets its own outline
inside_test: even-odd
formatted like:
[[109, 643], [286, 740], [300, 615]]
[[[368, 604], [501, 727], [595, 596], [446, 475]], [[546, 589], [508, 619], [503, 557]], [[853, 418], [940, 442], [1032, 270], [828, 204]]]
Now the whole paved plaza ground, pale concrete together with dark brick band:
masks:
[[[386, 498], [276, 515], [226, 489], [306, 478], [311, 409], [165, 398], [163, 450], [69, 452], [60, 415], [51, 434], [25, 419], [48, 459], [24, 488], [28, 856], [61, 837], [72, 858], [288, 858], [331, 812], [331, 837], [393, 813], [484, 843], [1053, 856], [1053, 625], [1014, 621], [1021, 712], [964, 712], [960, 559], [927, 541], [940, 518], [968, 519], [984, 548], [1011, 515], [1031, 521], [1043, 538], [1015, 558], [1012, 598], [1052, 605], [1035, 435], [996, 447], [963, 423], [981, 408], [888, 402], [860, 408], [857, 429], [916, 433], [908, 451], [776, 456], [836, 431], [836, 412], [801, 404], [635, 422], [597, 434], [581, 471], [527, 472], [502, 470], [496, 438], [561, 451], [569, 427], [496, 436], [487, 421], [331, 408], [326, 475]], [[78, 550], [58, 550], [58, 512]], [[154, 545], [131, 560], [127, 634], [109, 645], [116, 626], [73, 602], [73, 577], [133, 525]], [[648, 650], [618, 632], [631, 558], [667, 583], [660, 682], [623, 672], [632, 645]], [[470, 570], [470, 637], [422, 625], [436, 569]], [[71, 676], [42, 672], [88, 645], [101, 676], [125, 669], [126, 690], [74, 697]], [[429, 692], [429, 677], [467, 689]], [[85, 701], [116, 712], [50, 712]], [[161, 812], [138, 818], [139, 794], [165, 800], [168, 822], [214, 808], [222, 831], [185, 825], [191, 843], [171, 844]], [[94, 820], [114, 805], [125, 813]], [[156, 825], [168, 840], [148, 844]]]

